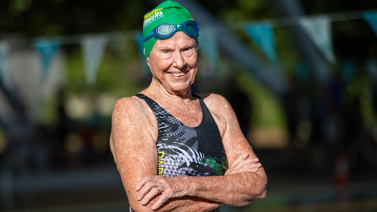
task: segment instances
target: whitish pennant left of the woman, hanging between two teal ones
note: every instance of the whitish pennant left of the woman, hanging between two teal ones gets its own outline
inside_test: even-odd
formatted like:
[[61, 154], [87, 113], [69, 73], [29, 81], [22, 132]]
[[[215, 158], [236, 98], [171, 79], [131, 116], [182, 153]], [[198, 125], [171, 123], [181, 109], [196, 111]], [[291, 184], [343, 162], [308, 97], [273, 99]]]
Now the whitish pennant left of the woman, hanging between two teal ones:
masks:
[[106, 44], [105, 36], [86, 36], [81, 40], [87, 84], [95, 84], [97, 81], [98, 66]]

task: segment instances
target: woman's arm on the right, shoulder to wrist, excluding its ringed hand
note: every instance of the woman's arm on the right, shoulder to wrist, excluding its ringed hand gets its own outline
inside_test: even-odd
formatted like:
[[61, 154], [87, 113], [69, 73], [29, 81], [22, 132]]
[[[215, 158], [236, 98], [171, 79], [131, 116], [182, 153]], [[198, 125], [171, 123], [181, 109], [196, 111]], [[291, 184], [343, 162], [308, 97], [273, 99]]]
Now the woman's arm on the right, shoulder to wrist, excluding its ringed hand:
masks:
[[[192, 185], [192, 193], [189, 195], [233, 206], [244, 206], [256, 200], [263, 200], [267, 186], [267, 175], [263, 167], [259, 167], [256, 172], [238, 171], [243, 170], [242, 166], [248, 167], [257, 157], [241, 131], [236, 114], [221, 95], [210, 94], [207, 98], [210, 98], [207, 100], [208, 108], [214, 115], [221, 114], [226, 122], [222, 143], [231, 166], [225, 172], [225, 176], [208, 176], [203, 177], [204, 179], [189, 177]], [[243, 154], [249, 155], [248, 158], [244, 160]], [[228, 172], [235, 174], [228, 175]]]

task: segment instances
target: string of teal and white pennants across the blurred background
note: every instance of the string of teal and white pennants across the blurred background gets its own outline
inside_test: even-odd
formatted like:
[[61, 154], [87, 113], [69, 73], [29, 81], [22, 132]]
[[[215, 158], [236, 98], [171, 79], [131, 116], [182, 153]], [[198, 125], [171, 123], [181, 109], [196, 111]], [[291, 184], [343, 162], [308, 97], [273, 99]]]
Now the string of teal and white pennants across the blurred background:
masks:
[[[277, 55], [274, 44], [273, 28], [298, 25], [303, 28], [308, 37], [311, 38], [314, 45], [322, 52], [322, 55], [329, 63], [336, 63], [336, 58], [333, 53], [331, 23], [364, 19], [377, 36], [377, 10], [363, 10], [350, 11], [341, 13], [328, 13], [320, 15], [304, 15], [290, 18], [275, 18], [264, 19], [244, 23], [232, 23], [229, 25], [233, 30], [244, 31], [256, 46], [266, 55], [271, 63], [277, 63]], [[212, 65], [218, 65], [221, 61], [218, 54], [218, 46], [216, 34], [221, 33], [224, 29], [201, 29], [201, 36], [199, 36], [199, 45], [203, 49], [206, 58]], [[145, 63], [145, 57], [142, 48], [142, 34], [141, 31], [118, 31], [97, 34], [81, 34], [81, 35], [66, 35], [49, 38], [34, 38], [34, 39], [19, 39], [13, 38], [7, 42], [0, 40], [0, 74], [2, 81], [0, 83], [9, 86], [7, 78], [7, 52], [9, 49], [18, 48], [35, 48], [41, 58], [41, 78], [48, 77], [49, 67], [54, 59], [60, 46], [63, 45], [81, 45], [83, 49], [83, 58], [85, 61], [86, 79], [88, 84], [94, 84], [98, 66], [100, 65], [101, 57], [106, 45], [110, 41], [118, 41], [122, 39], [132, 39], [138, 46], [139, 54], [142, 61], [142, 67], [145, 73], [149, 70]], [[6, 44], [5, 44], [6, 43]]]

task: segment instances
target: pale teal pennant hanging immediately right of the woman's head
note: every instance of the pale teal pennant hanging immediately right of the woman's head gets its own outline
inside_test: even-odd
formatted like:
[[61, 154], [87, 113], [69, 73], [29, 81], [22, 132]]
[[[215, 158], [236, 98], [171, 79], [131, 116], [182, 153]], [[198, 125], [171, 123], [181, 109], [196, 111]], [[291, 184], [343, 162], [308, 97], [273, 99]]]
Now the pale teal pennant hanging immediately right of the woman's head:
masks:
[[214, 67], [218, 65], [219, 52], [215, 29], [209, 26], [204, 29], [201, 29], [198, 41], [200, 49], [203, 49], [204, 54], [207, 55], [207, 57], [210, 59], [211, 65]]

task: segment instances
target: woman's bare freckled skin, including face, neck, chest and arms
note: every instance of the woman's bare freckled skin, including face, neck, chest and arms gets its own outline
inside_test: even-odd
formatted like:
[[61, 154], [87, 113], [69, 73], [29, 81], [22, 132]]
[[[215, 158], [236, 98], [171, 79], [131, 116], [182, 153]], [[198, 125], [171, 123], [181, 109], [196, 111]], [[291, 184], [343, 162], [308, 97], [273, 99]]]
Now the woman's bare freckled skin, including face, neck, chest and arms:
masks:
[[[192, 97], [190, 89], [198, 70], [197, 58], [196, 41], [182, 32], [156, 41], [147, 58], [152, 82], [140, 92], [192, 127], [202, 121], [199, 100]], [[169, 72], [186, 74], [177, 80]], [[267, 176], [230, 104], [221, 95], [198, 95], [204, 99], [221, 134], [229, 164], [224, 176], [157, 175], [155, 115], [144, 100], [135, 96], [115, 103], [110, 149], [136, 212], [210, 211], [221, 204], [243, 206], [265, 198]]]

